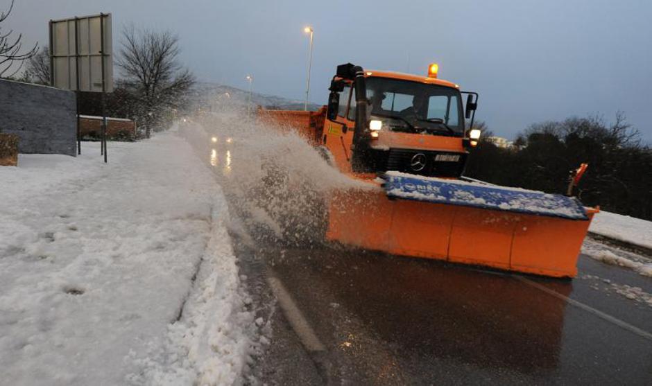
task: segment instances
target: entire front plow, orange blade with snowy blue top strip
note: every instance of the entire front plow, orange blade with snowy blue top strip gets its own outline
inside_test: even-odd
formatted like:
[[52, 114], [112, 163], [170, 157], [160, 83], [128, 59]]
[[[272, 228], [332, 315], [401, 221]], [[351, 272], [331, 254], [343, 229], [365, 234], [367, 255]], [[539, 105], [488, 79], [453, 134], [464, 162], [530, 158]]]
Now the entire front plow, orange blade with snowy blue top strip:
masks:
[[370, 184], [332, 195], [327, 238], [550, 277], [576, 276], [578, 254], [597, 213], [564, 196], [395, 172], [384, 184]]

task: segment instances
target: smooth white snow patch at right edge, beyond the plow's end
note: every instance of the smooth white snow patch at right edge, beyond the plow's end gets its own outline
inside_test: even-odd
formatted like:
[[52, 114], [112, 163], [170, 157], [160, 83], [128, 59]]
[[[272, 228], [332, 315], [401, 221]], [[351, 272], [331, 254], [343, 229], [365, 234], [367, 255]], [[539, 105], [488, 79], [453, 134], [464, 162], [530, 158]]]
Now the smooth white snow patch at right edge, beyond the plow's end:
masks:
[[589, 231], [652, 249], [652, 221], [601, 211], [594, 216]]

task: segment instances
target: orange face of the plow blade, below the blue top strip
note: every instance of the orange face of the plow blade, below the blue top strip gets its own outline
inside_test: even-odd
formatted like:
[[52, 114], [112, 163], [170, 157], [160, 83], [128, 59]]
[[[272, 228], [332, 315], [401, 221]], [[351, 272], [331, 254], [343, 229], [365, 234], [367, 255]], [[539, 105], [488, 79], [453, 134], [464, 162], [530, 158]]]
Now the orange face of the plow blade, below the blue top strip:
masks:
[[582, 218], [575, 219], [406, 200], [388, 196], [375, 184], [369, 190], [334, 193], [327, 238], [390, 254], [575, 277], [582, 242], [598, 210], [582, 211]]

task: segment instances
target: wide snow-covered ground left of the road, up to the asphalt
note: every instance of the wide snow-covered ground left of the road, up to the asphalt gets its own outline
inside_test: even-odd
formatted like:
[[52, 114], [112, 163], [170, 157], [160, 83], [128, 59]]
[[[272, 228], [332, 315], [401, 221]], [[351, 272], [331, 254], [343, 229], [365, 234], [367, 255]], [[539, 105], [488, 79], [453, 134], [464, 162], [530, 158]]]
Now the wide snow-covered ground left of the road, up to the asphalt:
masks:
[[174, 134], [83, 153], [0, 168], [0, 384], [238, 383], [257, 324], [209, 168]]

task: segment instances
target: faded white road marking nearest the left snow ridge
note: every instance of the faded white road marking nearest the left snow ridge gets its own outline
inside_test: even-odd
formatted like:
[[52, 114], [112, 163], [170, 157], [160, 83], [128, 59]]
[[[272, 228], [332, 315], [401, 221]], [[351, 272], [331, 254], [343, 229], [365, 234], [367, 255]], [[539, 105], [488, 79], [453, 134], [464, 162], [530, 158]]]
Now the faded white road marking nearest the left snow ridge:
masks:
[[268, 274], [267, 282], [274, 292], [276, 299], [278, 299], [285, 317], [288, 319], [288, 322], [298, 335], [304, 347], [311, 352], [325, 351], [325, 346], [319, 340], [315, 331], [295, 304], [292, 296], [288, 290], [285, 289], [285, 286], [283, 286], [283, 283], [271, 274]]

